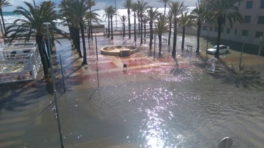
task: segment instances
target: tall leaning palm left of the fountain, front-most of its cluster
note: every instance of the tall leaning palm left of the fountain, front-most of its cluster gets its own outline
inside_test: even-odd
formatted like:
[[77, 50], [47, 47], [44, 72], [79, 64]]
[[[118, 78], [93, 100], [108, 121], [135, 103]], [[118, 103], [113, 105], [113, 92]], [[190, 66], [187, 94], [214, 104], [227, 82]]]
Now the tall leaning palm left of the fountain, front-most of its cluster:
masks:
[[76, 18], [77, 22], [80, 26], [81, 35], [82, 35], [82, 47], [83, 47], [83, 61], [82, 65], [88, 64], [87, 63], [87, 54], [86, 54], [86, 47], [85, 47], [85, 37], [84, 37], [84, 18], [86, 12], [89, 9], [87, 4], [87, 0], [67, 0], [68, 6], [68, 15], [70, 18]]

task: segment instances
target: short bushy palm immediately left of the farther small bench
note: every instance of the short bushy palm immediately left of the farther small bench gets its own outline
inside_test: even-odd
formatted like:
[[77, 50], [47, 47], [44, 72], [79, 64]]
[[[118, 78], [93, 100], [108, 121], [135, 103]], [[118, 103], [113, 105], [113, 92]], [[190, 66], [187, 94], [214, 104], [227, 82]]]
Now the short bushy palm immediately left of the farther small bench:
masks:
[[166, 25], [167, 22], [165, 20], [164, 16], [158, 17], [157, 19], [157, 23], [155, 23], [155, 27], [157, 28], [157, 33], [158, 33], [158, 37], [159, 37], [159, 53], [161, 53], [161, 37], [162, 37], [162, 33], [167, 31], [167, 27], [168, 25]]

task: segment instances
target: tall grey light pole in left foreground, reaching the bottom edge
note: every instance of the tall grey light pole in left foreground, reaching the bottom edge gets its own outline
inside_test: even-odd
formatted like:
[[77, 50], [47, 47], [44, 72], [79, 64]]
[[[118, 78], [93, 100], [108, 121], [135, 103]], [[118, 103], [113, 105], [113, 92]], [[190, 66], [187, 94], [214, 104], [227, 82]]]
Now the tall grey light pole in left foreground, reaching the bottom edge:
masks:
[[50, 68], [51, 68], [51, 76], [52, 76], [52, 83], [53, 83], [53, 95], [54, 95], [54, 102], [55, 102], [55, 111], [57, 114], [57, 123], [59, 128], [59, 135], [60, 135], [60, 146], [64, 147], [63, 137], [62, 137], [62, 130], [61, 130], [61, 124], [60, 124], [60, 113], [59, 113], [59, 106], [57, 101], [57, 93], [56, 93], [56, 85], [55, 85], [55, 78], [54, 78], [54, 71], [53, 71], [53, 65], [52, 65], [52, 58], [51, 58], [51, 52], [50, 52], [50, 37], [49, 37], [49, 31], [48, 31], [48, 25], [50, 23], [44, 23], [46, 25], [46, 37], [48, 38], [48, 53], [50, 56]]

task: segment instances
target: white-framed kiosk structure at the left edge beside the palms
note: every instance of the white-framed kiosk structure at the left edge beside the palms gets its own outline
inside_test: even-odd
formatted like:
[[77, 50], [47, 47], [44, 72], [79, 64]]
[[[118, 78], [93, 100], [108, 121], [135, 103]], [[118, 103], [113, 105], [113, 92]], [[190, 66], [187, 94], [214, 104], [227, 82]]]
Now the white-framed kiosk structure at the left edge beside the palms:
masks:
[[35, 42], [16, 42], [0, 48], [0, 83], [35, 80], [40, 66]]

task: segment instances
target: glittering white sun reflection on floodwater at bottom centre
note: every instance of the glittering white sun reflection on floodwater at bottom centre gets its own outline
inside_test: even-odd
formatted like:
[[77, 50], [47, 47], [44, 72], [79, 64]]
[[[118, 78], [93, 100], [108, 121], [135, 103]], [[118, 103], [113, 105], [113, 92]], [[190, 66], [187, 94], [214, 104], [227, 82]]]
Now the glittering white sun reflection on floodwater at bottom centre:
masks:
[[138, 110], [146, 113], [139, 130], [146, 141], [145, 147], [176, 148], [182, 142], [182, 135], [175, 133], [175, 127], [171, 127], [167, 122], [175, 119], [168, 108], [177, 107], [174, 100], [177, 95], [165, 88], [148, 87], [140, 92], [132, 92], [131, 96], [135, 101], [143, 101]]

